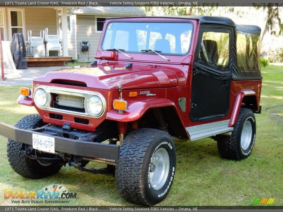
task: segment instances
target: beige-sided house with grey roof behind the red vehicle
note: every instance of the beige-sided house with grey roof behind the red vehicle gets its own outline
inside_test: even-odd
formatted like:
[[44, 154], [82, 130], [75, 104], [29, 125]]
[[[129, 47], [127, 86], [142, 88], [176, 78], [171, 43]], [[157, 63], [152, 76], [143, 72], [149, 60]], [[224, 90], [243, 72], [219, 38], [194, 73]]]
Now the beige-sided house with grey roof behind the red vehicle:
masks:
[[[96, 55], [106, 18], [122, 16], [145, 16], [137, 7], [0, 7], [1, 39], [11, 41], [16, 32], [28, 30], [32, 36], [40, 36], [40, 30], [48, 28], [49, 35], [61, 29], [62, 57], [30, 57], [28, 66], [62, 65], [70, 60], [90, 62]], [[81, 42], [89, 41], [89, 51], [81, 52]]]

